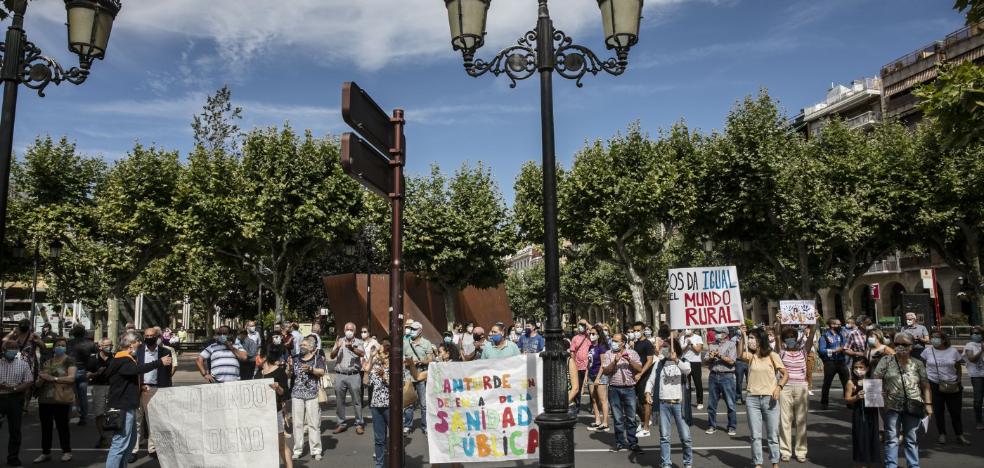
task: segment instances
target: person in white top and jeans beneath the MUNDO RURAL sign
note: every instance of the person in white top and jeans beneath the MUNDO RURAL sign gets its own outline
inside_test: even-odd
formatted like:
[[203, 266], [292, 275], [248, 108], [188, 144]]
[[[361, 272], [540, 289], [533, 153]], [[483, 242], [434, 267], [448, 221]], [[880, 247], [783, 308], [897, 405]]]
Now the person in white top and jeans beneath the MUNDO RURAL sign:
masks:
[[672, 350], [667, 346], [656, 355], [655, 368], [646, 382], [646, 402], [659, 404], [660, 465], [673, 466], [670, 462], [670, 427], [671, 424], [676, 424], [680, 442], [683, 444], [683, 466], [691, 468], [694, 460], [693, 443], [689, 423], [684, 417], [684, 409], [690, 406], [687, 376], [690, 375], [691, 365], [686, 359], [678, 358], [683, 354], [683, 349], [675, 334], [670, 343], [673, 343]]

